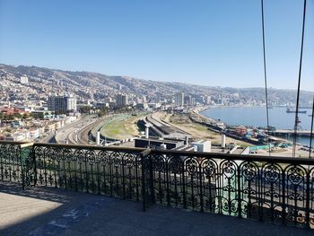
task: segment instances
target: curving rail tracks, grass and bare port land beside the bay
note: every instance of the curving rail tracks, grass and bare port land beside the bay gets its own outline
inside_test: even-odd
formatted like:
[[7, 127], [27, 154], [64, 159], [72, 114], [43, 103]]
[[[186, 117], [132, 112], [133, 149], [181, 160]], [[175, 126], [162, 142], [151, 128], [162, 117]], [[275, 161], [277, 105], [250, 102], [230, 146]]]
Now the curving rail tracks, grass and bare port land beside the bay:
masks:
[[[212, 153], [243, 154], [242, 152], [246, 151], [251, 155], [292, 157], [292, 143], [284, 138], [270, 136], [272, 139], [270, 148], [265, 140], [252, 138], [250, 142], [247, 142], [248, 138], [244, 135], [236, 134], [236, 132], [230, 134], [226, 132], [229, 127], [222, 128], [222, 122], [204, 117], [198, 112], [199, 109], [191, 109], [188, 112], [158, 110], [110, 113], [101, 118], [90, 116], [60, 129], [57, 132], [56, 141], [61, 144], [96, 144], [96, 136], [100, 132], [101, 145], [135, 147], [135, 139], [143, 138], [145, 125], [150, 124], [150, 139], [165, 139], [165, 142], [171, 142], [171, 140], [185, 140], [188, 137], [189, 143], [210, 141]], [[241, 128], [240, 132], [242, 132]], [[258, 132], [266, 135], [266, 130], [259, 129]], [[225, 135], [223, 147], [222, 135]], [[182, 144], [184, 147], [184, 142]], [[309, 150], [301, 144], [297, 144], [295, 153], [296, 157], [310, 156]], [[311, 155], [314, 156], [314, 153]]]

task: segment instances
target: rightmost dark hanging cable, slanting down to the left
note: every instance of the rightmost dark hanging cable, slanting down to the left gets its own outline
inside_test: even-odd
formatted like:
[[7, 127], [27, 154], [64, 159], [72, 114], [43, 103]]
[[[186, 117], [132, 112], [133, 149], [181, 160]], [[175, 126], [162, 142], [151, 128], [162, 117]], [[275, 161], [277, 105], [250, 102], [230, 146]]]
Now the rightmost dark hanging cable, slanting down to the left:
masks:
[[298, 124], [299, 124], [299, 100], [300, 100], [300, 85], [301, 85], [302, 57], [303, 57], [303, 41], [304, 41], [305, 12], [306, 12], [306, 0], [304, 0], [304, 6], [303, 6], [303, 22], [302, 22], [302, 38], [301, 38], [301, 53], [300, 53], [298, 92], [297, 92], [297, 103], [296, 103], [295, 118], [294, 118], [294, 135], [293, 135], [293, 149], [292, 149], [292, 156], [293, 156], [293, 157], [295, 157], [295, 148], [296, 148], [296, 143], [297, 143]]

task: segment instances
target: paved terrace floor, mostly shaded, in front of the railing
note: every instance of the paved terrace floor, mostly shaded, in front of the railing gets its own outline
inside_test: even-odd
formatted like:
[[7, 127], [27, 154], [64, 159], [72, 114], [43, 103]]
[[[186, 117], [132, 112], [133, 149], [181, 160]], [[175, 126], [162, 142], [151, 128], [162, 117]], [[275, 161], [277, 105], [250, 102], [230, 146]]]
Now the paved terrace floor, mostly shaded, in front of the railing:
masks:
[[0, 235], [314, 235], [272, 223], [0, 183]]

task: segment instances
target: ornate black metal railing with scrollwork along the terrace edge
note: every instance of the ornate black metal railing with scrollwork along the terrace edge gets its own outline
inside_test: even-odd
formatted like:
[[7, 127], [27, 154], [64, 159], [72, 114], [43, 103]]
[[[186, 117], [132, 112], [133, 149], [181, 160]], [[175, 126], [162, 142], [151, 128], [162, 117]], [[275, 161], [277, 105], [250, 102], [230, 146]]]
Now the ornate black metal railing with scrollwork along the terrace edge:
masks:
[[1, 180], [314, 228], [314, 160], [0, 142]]

